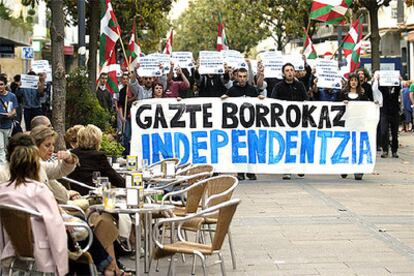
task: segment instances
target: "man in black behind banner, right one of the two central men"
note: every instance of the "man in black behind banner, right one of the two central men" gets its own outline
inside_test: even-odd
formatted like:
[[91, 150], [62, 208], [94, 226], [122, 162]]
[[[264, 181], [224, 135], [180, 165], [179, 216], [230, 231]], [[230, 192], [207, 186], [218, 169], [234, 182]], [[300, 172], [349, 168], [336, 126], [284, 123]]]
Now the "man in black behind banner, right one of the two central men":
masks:
[[[286, 63], [282, 67], [283, 81], [276, 84], [273, 88], [272, 95], [273, 99], [285, 100], [285, 101], [298, 101], [303, 102], [308, 100], [308, 94], [306, 93], [305, 86], [303, 83], [295, 79], [296, 71], [295, 67], [291, 63]], [[298, 174], [303, 177], [303, 174]], [[290, 180], [291, 174], [284, 174], [284, 180]]]

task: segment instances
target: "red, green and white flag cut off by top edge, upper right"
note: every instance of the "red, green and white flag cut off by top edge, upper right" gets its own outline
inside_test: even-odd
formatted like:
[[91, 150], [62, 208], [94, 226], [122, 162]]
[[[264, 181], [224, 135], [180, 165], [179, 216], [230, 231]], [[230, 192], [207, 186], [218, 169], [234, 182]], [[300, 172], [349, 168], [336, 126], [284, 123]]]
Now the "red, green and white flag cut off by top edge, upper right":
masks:
[[343, 23], [351, 4], [352, 0], [313, 0], [310, 19], [326, 24]]

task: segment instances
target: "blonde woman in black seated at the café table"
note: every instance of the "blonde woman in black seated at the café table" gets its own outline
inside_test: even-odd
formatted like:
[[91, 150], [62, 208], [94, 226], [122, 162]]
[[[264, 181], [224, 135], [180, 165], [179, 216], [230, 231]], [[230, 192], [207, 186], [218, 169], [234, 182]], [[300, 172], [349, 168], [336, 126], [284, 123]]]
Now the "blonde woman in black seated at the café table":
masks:
[[[93, 186], [93, 172], [99, 171], [101, 176], [109, 178], [112, 186], [125, 187], [125, 180], [109, 164], [106, 154], [99, 151], [102, 142], [102, 131], [94, 126], [87, 125], [78, 132], [78, 147], [72, 150], [79, 158], [79, 166], [69, 174], [69, 178]], [[79, 187], [77, 191], [85, 195], [88, 193], [86, 188]]]

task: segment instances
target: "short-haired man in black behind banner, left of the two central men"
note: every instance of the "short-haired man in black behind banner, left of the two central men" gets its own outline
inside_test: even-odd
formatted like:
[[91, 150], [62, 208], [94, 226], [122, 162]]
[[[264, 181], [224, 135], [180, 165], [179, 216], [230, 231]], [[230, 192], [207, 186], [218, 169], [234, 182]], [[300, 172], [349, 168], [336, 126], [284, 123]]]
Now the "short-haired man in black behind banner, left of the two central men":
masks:
[[[256, 87], [247, 83], [248, 80], [248, 73], [245, 68], [240, 68], [237, 72], [237, 82], [233, 83], [233, 86], [224, 94], [221, 98], [225, 99], [227, 97], [258, 97], [259, 91]], [[264, 96], [261, 96], [264, 98]], [[254, 173], [246, 173], [247, 178], [250, 180], [256, 180], [256, 174]], [[237, 179], [244, 180], [244, 173], [238, 173]]]

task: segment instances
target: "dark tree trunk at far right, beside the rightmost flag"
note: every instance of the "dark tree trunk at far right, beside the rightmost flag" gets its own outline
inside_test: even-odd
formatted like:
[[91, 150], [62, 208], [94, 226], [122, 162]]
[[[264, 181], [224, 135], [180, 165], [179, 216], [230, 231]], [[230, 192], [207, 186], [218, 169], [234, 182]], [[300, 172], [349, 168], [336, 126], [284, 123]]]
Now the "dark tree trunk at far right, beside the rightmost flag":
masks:
[[371, 24], [371, 65], [372, 73], [380, 69], [380, 35], [378, 27], [378, 9], [379, 7], [374, 4], [368, 8], [369, 19]]

